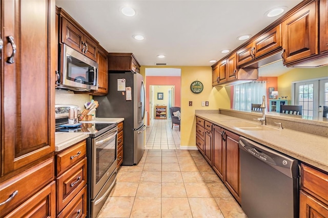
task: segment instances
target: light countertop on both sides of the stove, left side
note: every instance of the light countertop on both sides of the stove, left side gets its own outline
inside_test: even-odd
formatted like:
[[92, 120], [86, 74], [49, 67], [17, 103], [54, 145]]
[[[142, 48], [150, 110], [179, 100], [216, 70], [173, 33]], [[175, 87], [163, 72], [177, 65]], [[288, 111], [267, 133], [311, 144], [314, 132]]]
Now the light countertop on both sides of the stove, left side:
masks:
[[[96, 118], [81, 123], [119, 123], [122, 121], [124, 121], [124, 118]], [[55, 151], [64, 150], [88, 137], [89, 134], [86, 133], [55, 133]]]

